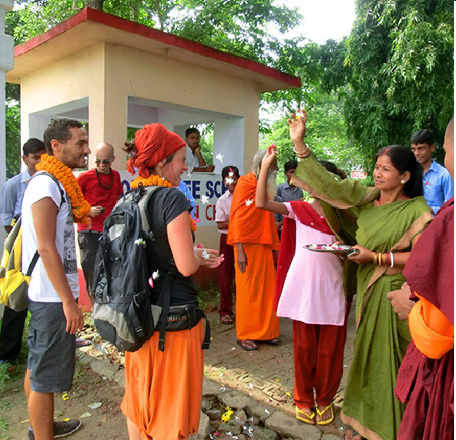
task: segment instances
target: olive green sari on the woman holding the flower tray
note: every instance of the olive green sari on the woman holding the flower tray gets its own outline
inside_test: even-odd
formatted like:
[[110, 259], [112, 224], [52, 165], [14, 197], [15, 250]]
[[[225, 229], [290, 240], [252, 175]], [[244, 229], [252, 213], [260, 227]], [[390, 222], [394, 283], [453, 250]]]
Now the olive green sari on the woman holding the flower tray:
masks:
[[[312, 155], [300, 162], [292, 183], [326, 202], [326, 219], [338, 238], [374, 252], [410, 251], [412, 240], [432, 220], [423, 197], [374, 206], [377, 189], [335, 177]], [[401, 272], [386, 275], [386, 269], [358, 265], [357, 333], [341, 414], [344, 423], [370, 440], [395, 440], [404, 414], [394, 388], [410, 333], [386, 294], [405, 278]]]

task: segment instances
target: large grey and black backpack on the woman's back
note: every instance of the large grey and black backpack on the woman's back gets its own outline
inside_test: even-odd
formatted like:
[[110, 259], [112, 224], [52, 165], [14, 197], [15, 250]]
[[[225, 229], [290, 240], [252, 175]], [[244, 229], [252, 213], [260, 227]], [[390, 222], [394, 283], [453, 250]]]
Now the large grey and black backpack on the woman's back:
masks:
[[93, 274], [93, 322], [100, 335], [134, 352], [154, 333], [146, 246], [154, 240], [147, 204], [157, 189], [132, 189], [104, 221]]

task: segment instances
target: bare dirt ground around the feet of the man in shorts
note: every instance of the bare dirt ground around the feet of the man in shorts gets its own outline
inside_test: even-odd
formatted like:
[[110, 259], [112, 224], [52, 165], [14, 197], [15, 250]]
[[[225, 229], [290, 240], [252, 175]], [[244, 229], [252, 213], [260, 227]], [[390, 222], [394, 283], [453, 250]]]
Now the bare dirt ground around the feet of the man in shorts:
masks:
[[[20, 365], [0, 390], [1, 440], [26, 440], [28, 413], [23, 389], [25, 368]], [[80, 419], [82, 427], [72, 440], [127, 439], [125, 417], [120, 411], [124, 389], [86, 367], [77, 364], [73, 389], [68, 398], [55, 396], [55, 419]], [[101, 402], [101, 404], [99, 404]], [[95, 404], [95, 405], [94, 405]], [[91, 409], [89, 406], [98, 406]]]

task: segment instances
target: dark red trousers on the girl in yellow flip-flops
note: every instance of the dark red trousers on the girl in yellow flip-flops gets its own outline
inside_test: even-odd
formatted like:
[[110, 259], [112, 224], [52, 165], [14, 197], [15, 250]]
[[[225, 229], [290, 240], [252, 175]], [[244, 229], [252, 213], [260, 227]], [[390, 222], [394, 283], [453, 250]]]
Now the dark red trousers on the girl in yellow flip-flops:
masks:
[[315, 403], [327, 406], [334, 400], [342, 379], [347, 317], [352, 298], [347, 302], [342, 326], [293, 320], [294, 400], [300, 409], [313, 408]]

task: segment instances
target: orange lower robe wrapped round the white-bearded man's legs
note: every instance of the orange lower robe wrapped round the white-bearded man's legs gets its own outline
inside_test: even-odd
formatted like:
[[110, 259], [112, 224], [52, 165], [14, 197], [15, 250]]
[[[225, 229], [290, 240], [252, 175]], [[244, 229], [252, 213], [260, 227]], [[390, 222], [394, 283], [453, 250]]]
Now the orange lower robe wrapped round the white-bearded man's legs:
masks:
[[280, 334], [274, 309], [275, 266], [272, 249], [244, 243], [247, 256], [245, 272], [236, 260], [236, 335], [238, 339], [267, 340]]

